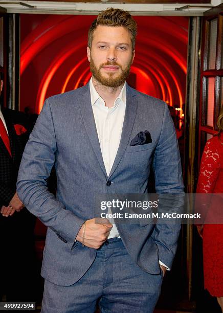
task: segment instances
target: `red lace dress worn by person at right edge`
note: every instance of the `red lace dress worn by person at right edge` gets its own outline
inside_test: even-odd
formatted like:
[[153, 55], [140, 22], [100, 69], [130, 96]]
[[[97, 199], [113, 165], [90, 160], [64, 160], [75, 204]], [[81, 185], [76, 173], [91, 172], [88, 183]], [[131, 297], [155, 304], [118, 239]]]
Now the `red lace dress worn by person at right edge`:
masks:
[[[223, 133], [207, 141], [200, 164], [197, 193], [223, 194]], [[221, 195], [222, 196], [222, 195]], [[223, 214], [223, 197], [214, 197], [208, 215]], [[210, 212], [210, 214], [209, 214]], [[222, 218], [221, 218], [222, 220]], [[223, 225], [204, 225], [203, 231], [205, 288], [214, 297], [223, 297]]]

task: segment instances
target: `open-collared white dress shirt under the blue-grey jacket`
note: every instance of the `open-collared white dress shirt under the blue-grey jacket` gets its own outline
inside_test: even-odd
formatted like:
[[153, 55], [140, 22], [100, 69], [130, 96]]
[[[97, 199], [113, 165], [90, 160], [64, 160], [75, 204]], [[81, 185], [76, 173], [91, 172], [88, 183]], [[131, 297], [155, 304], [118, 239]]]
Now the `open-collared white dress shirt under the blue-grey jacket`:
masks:
[[[102, 158], [107, 175], [109, 175], [116, 158], [122, 134], [126, 107], [126, 82], [124, 83], [119, 96], [116, 98], [114, 106], [110, 108], [105, 105], [104, 100], [97, 93], [92, 78], [90, 80], [90, 93]], [[108, 213], [110, 212], [109, 209]], [[120, 237], [115, 223], [113, 223], [113, 228], [110, 231], [108, 239], [114, 237]], [[159, 262], [161, 265], [167, 267], [163, 262]]]

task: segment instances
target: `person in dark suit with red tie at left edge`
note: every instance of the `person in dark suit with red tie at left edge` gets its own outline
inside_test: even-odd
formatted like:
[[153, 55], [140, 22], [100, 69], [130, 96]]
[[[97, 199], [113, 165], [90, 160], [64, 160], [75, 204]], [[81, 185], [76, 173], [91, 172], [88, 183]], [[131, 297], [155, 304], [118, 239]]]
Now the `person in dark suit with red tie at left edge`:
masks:
[[[3, 77], [0, 96], [2, 90]], [[28, 137], [25, 115], [0, 109], [0, 298], [5, 295], [7, 301], [35, 300], [35, 217], [16, 192], [19, 164]]]

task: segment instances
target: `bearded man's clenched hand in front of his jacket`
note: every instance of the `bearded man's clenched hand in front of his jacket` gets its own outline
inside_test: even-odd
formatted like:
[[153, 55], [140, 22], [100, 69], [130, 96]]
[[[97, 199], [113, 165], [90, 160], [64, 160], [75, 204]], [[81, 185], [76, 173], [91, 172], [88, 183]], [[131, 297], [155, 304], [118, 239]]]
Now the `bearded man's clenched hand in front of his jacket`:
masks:
[[106, 241], [109, 236], [113, 225], [107, 218], [100, 219], [101, 223], [98, 223], [98, 218], [92, 218], [85, 221], [85, 233], [83, 242], [83, 225], [79, 230], [76, 240], [83, 242], [86, 247], [99, 249], [101, 245]]

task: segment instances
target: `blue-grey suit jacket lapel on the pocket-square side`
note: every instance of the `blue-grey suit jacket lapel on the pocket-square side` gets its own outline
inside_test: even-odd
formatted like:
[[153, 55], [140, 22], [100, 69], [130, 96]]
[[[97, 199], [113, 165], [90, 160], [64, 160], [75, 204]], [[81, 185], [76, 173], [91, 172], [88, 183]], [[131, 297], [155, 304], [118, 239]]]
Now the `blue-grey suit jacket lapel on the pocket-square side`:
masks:
[[132, 130], [135, 118], [136, 118], [136, 113], [137, 113], [137, 97], [136, 97], [134, 90], [127, 85], [126, 108], [125, 108], [125, 117], [124, 117], [124, 122], [123, 122], [123, 127], [122, 127], [121, 140], [120, 140], [119, 148], [116, 154], [113, 167], [111, 168], [111, 171], [108, 175], [108, 179], [116, 170], [125, 152], [125, 149], [127, 147], [127, 144], [129, 142], [129, 138], [131, 135], [131, 130]]

